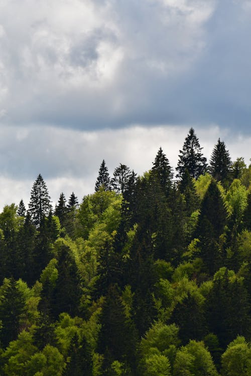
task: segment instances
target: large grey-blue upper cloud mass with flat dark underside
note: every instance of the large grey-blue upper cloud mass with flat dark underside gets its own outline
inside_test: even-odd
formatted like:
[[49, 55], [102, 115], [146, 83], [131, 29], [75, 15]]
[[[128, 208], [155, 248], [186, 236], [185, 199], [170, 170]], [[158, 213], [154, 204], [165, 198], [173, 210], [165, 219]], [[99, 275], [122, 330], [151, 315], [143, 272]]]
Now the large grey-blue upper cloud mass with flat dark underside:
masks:
[[2, 1], [0, 121], [248, 132], [250, 12], [244, 0]]

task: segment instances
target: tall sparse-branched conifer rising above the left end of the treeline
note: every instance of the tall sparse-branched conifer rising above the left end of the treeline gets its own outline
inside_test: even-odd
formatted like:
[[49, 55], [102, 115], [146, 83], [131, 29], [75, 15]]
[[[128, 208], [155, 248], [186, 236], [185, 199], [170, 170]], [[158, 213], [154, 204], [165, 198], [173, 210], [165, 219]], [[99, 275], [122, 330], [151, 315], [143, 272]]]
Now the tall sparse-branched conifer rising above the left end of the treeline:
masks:
[[52, 209], [50, 203], [50, 196], [48, 194], [47, 186], [41, 174], [38, 175], [33, 184], [31, 191], [31, 200], [29, 203], [29, 213], [32, 222], [36, 227], [39, 227], [44, 216], [47, 216]]

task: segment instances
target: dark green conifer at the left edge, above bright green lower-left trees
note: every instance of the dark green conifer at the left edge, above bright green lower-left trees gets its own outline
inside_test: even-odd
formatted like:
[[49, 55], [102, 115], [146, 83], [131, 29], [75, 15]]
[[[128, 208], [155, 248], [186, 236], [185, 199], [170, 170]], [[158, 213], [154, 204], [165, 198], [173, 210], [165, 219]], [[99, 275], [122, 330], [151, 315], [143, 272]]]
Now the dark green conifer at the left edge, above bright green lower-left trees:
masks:
[[4, 347], [17, 338], [21, 330], [20, 320], [25, 313], [25, 298], [17, 282], [10, 278], [0, 299], [0, 340]]

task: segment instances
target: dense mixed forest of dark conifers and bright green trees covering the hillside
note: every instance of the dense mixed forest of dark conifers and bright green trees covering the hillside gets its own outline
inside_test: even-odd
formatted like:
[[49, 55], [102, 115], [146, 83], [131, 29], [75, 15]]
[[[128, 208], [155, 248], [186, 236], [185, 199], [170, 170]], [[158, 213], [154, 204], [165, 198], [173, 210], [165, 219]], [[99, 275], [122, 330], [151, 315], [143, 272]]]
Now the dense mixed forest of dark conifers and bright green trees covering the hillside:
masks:
[[150, 167], [3, 209], [1, 375], [251, 375], [251, 164], [191, 128]]

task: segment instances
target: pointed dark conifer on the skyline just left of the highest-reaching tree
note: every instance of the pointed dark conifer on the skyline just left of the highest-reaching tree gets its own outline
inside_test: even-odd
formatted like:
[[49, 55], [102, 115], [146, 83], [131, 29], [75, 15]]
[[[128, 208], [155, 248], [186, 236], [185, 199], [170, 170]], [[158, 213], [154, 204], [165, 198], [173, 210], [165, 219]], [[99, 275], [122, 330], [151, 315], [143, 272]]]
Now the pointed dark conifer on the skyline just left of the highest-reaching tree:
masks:
[[169, 164], [169, 160], [166, 154], [163, 153], [160, 147], [158, 153], [153, 162], [152, 172], [155, 178], [158, 179], [162, 189], [167, 193], [171, 186], [171, 180], [173, 178], [172, 167]]

